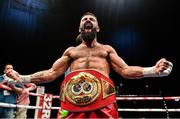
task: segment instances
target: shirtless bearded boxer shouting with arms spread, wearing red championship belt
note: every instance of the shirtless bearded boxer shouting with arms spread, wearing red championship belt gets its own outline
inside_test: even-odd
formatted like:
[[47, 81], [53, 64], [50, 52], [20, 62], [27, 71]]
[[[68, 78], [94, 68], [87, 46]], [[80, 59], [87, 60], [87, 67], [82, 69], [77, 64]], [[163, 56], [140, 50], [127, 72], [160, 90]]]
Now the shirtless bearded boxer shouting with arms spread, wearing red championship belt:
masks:
[[[167, 76], [172, 63], [160, 59], [153, 67], [128, 66], [114, 48], [97, 42], [100, 31], [97, 18], [85, 13], [80, 21], [82, 43], [69, 47], [48, 70], [31, 75], [9, 72], [9, 77], [21, 83], [46, 83], [69, 73], [61, 84], [61, 108], [59, 117], [64, 118], [118, 118], [115, 88], [109, 78], [110, 67], [124, 78]], [[62, 113], [65, 112], [65, 113]]]

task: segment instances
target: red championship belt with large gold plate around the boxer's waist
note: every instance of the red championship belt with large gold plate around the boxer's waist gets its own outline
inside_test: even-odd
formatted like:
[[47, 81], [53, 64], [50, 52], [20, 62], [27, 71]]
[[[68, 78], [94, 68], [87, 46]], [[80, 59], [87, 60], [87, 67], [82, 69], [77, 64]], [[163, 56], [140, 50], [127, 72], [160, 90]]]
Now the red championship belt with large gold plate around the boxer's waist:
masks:
[[115, 87], [111, 79], [95, 70], [78, 70], [62, 82], [60, 100], [64, 110], [92, 111], [116, 102]]

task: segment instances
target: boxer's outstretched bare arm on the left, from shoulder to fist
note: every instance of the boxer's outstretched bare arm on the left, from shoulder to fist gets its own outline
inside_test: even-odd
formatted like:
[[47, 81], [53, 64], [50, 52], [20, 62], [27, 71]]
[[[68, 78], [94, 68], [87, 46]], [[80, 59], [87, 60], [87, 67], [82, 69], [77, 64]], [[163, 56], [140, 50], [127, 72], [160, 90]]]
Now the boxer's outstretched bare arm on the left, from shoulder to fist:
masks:
[[68, 48], [61, 58], [56, 60], [52, 67], [48, 70], [39, 71], [30, 75], [17, 75], [13, 72], [8, 72], [8, 76], [21, 83], [46, 83], [55, 80], [58, 76], [62, 75], [71, 62], [69, 52], [73, 47]]

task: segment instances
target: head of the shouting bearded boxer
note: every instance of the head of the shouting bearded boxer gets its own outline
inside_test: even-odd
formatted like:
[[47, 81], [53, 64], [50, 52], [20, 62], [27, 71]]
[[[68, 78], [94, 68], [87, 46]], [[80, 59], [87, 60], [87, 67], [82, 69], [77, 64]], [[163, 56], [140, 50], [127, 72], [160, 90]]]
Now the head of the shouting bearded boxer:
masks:
[[91, 44], [95, 39], [97, 32], [99, 32], [98, 22], [95, 16], [85, 15], [82, 17], [79, 27], [79, 32], [81, 32], [82, 39]]

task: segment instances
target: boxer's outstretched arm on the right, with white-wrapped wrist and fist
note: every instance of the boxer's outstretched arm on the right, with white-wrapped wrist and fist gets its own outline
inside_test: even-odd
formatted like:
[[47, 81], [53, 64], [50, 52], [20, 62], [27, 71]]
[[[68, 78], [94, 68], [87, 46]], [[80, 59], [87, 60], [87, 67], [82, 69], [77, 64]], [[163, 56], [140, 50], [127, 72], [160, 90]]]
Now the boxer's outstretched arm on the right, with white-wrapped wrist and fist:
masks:
[[167, 76], [172, 70], [172, 63], [165, 58], [159, 60], [156, 65], [152, 67], [129, 66], [118, 56], [112, 47], [108, 46], [108, 49], [112, 68], [124, 78], [137, 79], [143, 77]]

